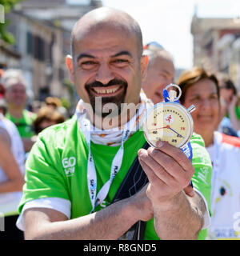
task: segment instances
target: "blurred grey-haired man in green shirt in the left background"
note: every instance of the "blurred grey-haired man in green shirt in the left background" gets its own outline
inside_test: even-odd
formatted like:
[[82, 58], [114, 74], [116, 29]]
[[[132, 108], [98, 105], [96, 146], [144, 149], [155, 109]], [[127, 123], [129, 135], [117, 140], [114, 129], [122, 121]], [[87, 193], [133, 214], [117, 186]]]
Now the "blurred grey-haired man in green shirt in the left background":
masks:
[[29, 152], [33, 143], [31, 137], [34, 136], [32, 122], [36, 114], [26, 110], [26, 81], [19, 70], [7, 70], [3, 75], [3, 85], [6, 88], [6, 102], [8, 112], [6, 118], [14, 122], [22, 138], [24, 149]]

